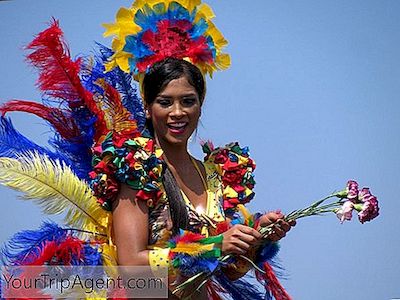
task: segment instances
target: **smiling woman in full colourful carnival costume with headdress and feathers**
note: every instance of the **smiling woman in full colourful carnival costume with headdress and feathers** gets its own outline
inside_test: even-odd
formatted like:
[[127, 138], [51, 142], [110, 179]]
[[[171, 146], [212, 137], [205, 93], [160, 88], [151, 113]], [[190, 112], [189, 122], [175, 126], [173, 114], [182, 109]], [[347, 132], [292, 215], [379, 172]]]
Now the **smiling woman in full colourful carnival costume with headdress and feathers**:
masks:
[[[32, 239], [31, 232], [26, 233], [22, 243], [21, 236], [16, 236], [10, 249], [21, 248], [21, 244], [26, 247], [18, 254], [9, 253], [11, 265], [98, 266], [113, 265], [115, 259], [119, 265], [171, 265], [172, 289], [198, 270], [188, 270], [190, 266], [185, 263], [176, 270], [175, 257], [183, 255], [181, 258], [189, 259], [191, 253], [171, 246], [171, 239], [172, 244], [182, 236], [186, 241], [195, 241], [192, 249], [199, 246], [205, 259], [210, 258], [207, 271], [214, 274], [222, 269], [232, 280], [248, 271], [249, 265], [243, 264], [244, 256], [253, 260], [260, 244], [264, 244], [258, 232], [260, 227], [276, 223], [268, 239], [277, 241], [294, 225], [285, 222], [280, 213], [262, 215], [255, 224], [250, 224], [254, 218], [241, 219], [237, 215], [241, 209], [247, 214], [241, 205], [254, 194], [254, 164], [245, 148], [233, 145], [222, 150], [208, 149], [204, 163], [188, 153], [187, 142], [197, 127], [205, 98], [204, 76], [230, 64], [229, 56], [221, 52], [226, 41], [210, 21], [214, 16], [211, 8], [200, 1], [149, 3], [138, 0], [130, 9], [120, 10], [116, 24], [107, 26], [107, 34], [116, 35], [113, 51], [101, 48], [100, 66], [89, 60], [83, 74], [79, 74], [82, 61], [73, 61], [67, 55], [69, 50], [65, 49], [56, 21], [28, 46], [32, 51], [28, 58], [40, 71], [41, 89], [45, 95], [58, 99], [63, 109], [11, 101], [1, 111], [33, 112], [49, 121], [56, 129], [51, 143], [60, 153], [26, 142], [2, 119], [5, 140], [12, 141], [10, 149], [14, 150], [5, 153], [12, 156], [13, 164], [6, 160], [3, 165], [15, 173], [14, 165], [20, 163], [14, 158], [15, 153], [27, 155], [23, 163], [30, 163], [35, 174], [30, 176], [36, 178], [41, 174], [41, 180], [36, 182], [38, 190], [42, 191], [44, 185], [45, 191], [54, 191], [54, 195], [40, 195], [57, 201], [42, 202], [44, 210], [59, 213], [59, 207], [69, 207], [68, 229], [44, 224], [34, 235], [37, 240]], [[105, 60], [106, 71], [116, 70], [105, 74]], [[129, 75], [121, 74], [122, 71]], [[150, 137], [138, 130], [140, 113], [129, 102], [135, 97], [124, 97], [132, 74], [141, 84]], [[32, 149], [40, 156], [32, 157]], [[57, 168], [56, 159], [74, 172]], [[221, 168], [232, 165], [244, 165], [246, 169], [234, 170], [232, 177], [224, 177]], [[49, 166], [59, 176], [48, 176]], [[69, 194], [65, 195], [65, 184], [56, 179], [67, 177]], [[19, 186], [18, 177], [14, 183], [8, 179], [6, 182], [20, 190], [26, 188]], [[230, 187], [229, 182], [236, 185]], [[246, 186], [241, 186], [242, 182]], [[26, 189], [30, 195], [30, 186]], [[77, 198], [77, 190], [82, 191], [81, 197]], [[234, 196], [229, 198], [230, 194]], [[112, 224], [109, 212], [99, 209], [93, 200], [113, 211]], [[186, 231], [182, 233], [182, 229]], [[81, 239], [82, 234], [90, 238]], [[117, 246], [116, 256], [112, 242]], [[199, 253], [192, 258], [200, 257]], [[266, 261], [268, 257], [263, 254], [261, 261]], [[226, 255], [232, 255], [229, 264], [224, 261], [221, 265], [219, 258]]]

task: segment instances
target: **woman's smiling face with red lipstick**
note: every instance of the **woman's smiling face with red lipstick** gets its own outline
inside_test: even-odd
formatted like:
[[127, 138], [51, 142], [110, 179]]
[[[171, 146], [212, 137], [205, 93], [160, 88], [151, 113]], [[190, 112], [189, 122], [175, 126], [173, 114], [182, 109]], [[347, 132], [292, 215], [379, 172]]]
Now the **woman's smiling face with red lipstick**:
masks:
[[154, 133], [161, 144], [187, 144], [197, 127], [201, 103], [186, 77], [171, 80], [148, 107]]

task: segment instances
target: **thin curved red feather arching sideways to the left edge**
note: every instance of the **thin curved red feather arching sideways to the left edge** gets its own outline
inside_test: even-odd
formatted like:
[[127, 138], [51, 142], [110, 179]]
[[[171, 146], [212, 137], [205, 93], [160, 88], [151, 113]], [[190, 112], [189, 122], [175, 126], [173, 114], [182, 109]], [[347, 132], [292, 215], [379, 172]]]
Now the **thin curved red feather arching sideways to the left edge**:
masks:
[[12, 100], [0, 106], [3, 116], [10, 111], [28, 112], [48, 121], [64, 139], [79, 136], [79, 128], [66, 110], [25, 100]]

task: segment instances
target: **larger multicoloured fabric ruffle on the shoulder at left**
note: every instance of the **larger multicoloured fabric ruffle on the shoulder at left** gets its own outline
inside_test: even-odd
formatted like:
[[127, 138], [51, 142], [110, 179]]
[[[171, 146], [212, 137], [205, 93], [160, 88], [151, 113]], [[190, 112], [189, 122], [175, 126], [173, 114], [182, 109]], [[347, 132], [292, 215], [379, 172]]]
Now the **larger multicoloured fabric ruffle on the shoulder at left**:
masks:
[[136, 198], [154, 207], [163, 194], [162, 150], [151, 138], [109, 133], [104, 142], [93, 148], [93, 171], [90, 185], [100, 205], [111, 210], [120, 184], [137, 190]]

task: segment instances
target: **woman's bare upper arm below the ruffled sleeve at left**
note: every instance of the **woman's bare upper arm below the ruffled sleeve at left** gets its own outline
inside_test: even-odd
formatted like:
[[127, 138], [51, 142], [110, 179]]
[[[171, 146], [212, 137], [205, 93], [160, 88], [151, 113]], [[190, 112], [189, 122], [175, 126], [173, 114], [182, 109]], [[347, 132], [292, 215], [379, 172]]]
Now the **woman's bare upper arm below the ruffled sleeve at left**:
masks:
[[119, 265], [149, 265], [148, 223], [147, 204], [136, 199], [135, 190], [122, 184], [113, 203], [113, 234]]

